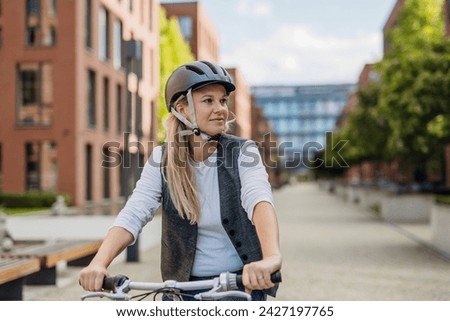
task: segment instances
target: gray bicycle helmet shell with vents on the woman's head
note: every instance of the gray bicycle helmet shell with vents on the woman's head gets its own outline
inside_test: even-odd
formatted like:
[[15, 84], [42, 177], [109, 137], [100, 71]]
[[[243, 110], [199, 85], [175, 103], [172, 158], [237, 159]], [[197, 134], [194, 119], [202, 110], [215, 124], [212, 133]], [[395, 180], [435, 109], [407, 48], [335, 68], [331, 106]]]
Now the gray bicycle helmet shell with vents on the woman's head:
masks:
[[166, 83], [167, 109], [170, 112], [173, 102], [189, 89], [195, 90], [211, 84], [223, 85], [228, 94], [236, 89], [230, 74], [212, 62], [193, 61], [178, 67]]

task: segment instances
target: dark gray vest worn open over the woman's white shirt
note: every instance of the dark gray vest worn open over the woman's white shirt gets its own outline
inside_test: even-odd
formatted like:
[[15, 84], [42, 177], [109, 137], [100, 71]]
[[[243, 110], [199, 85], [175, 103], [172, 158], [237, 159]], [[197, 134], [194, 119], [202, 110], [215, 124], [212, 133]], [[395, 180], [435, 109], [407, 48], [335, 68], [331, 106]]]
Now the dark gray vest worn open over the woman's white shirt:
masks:
[[[241, 206], [238, 158], [245, 142], [242, 138], [222, 135], [217, 144], [220, 216], [243, 264], [262, 258], [255, 226]], [[194, 263], [197, 225], [191, 225], [189, 220], [180, 217], [164, 180], [162, 186], [162, 277], [164, 280], [188, 281]]]

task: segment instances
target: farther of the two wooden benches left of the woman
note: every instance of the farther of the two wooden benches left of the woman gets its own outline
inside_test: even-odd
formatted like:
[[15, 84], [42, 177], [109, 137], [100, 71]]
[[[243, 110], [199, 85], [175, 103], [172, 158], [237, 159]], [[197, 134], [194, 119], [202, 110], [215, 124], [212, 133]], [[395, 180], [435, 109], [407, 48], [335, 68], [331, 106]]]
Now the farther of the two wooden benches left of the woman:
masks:
[[17, 246], [3, 253], [2, 258], [38, 259], [40, 270], [26, 277], [26, 284], [56, 284], [56, 266], [66, 262], [70, 266], [86, 266], [97, 253], [101, 241], [64, 240]]

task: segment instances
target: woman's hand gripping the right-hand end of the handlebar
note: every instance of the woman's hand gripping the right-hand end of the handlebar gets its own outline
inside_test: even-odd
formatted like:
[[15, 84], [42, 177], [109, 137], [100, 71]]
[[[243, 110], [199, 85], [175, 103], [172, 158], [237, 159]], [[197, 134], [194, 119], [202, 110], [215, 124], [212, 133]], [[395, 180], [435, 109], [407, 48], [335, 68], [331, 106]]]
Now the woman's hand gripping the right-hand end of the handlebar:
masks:
[[242, 272], [242, 283], [244, 284], [245, 292], [251, 293], [253, 290], [270, 289], [275, 285], [270, 280], [270, 276], [280, 269], [280, 256], [271, 256], [246, 264]]

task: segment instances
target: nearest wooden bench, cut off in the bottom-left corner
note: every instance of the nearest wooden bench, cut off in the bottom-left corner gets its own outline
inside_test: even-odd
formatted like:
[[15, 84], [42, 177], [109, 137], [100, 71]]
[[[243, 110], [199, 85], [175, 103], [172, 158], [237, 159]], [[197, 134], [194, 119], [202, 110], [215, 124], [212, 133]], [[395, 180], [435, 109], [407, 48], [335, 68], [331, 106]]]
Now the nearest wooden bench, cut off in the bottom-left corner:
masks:
[[25, 278], [40, 268], [37, 258], [0, 258], [0, 301], [22, 300]]

